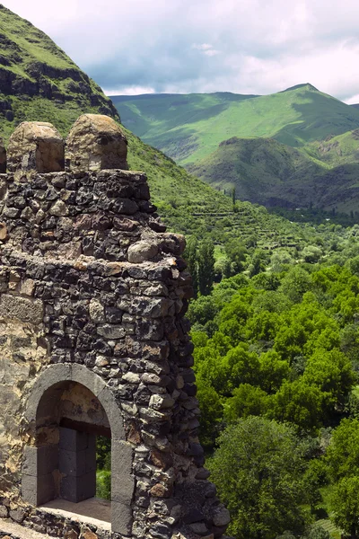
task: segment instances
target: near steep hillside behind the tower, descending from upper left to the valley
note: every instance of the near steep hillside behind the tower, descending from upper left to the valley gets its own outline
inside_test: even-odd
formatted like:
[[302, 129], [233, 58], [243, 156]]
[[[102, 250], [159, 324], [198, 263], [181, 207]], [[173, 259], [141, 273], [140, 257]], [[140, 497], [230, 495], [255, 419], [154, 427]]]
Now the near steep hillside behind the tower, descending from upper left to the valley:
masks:
[[[236, 98], [230, 95], [229, 99]], [[0, 136], [6, 141], [22, 120], [50, 121], [66, 135], [74, 119], [90, 111], [119, 121], [118, 111], [101, 88], [46, 34], [0, 5]], [[131, 132], [127, 137], [130, 168], [147, 173], [153, 201], [172, 229], [211, 234], [217, 243], [253, 233], [267, 247], [293, 241], [294, 236], [305, 243], [298, 225], [248, 203], [239, 203], [233, 211], [229, 197]]]

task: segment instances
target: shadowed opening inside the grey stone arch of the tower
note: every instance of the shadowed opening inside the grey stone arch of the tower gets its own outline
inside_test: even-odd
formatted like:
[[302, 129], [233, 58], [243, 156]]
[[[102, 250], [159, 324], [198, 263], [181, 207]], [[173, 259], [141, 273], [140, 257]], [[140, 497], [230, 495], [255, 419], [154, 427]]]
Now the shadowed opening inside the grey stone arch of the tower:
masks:
[[39, 401], [35, 437], [37, 505], [110, 523], [110, 487], [103, 499], [97, 498], [97, 446], [105, 440], [109, 451], [111, 446], [109, 420], [98, 398], [77, 382], [52, 385]]

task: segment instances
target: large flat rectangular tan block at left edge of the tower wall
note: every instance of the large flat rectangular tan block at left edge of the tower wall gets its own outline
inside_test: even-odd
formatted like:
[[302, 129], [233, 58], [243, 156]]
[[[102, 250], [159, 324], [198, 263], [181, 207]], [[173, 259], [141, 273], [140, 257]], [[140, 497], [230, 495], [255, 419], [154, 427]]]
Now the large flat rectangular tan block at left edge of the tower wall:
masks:
[[44, 306], [39, 299], [3, 294], [0, 297], [0, 318], [21, 320], [26, 323], [42, 323]]

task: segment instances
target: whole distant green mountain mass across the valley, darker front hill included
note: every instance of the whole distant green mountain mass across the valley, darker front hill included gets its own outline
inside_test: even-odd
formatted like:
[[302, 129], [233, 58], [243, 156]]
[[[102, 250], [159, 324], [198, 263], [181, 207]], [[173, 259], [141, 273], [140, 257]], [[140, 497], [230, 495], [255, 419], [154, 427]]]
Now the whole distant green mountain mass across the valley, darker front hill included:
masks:
[[267, 207], [357, 208], [359, 109], [311, 84], [112, 99], [125, 125], [216, 189]]

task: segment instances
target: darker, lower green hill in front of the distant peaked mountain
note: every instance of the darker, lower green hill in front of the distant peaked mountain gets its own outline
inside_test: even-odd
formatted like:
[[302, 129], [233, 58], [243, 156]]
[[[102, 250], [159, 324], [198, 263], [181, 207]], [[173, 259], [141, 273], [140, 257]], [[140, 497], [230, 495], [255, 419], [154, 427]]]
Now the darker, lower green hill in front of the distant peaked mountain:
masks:
[[330, 167], [271, 138], [233, 137], [188, 170], [220, 190], [235, 185], [239, 199], [267, 207], [307, 208], [315, 200], [327, 210], [357, 210], [358, 163]]

